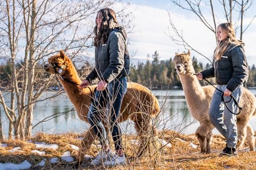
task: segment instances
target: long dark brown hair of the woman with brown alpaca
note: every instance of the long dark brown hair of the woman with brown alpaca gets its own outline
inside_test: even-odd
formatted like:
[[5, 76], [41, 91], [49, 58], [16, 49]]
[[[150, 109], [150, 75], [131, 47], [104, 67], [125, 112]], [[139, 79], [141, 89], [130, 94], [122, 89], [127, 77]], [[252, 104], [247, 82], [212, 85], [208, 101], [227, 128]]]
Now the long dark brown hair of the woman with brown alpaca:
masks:
[[116, 13], [114, 10], [110, 9], [110, 8], [103, 8], [101, 10], [99, 10], [98, 14], [101, 13], [101, 17], [102, 17], [102, 22], [101, 22], [101, 26], [100, 29], [98, 29], [97, 27], [97, 22], [96, 22], [96, 26], [94, 27], [94, 34], [96, 35], [94, 37], [94, 46], [98, 46], [100, 43], [104, 44], [106, 43], [106, 41], [109, 38], [109, 34], [110, 32], [115, 29], [115, 28], [121, 28], [121, 26], [119, 26], [119, 23], [117, 22], [116, 19]]

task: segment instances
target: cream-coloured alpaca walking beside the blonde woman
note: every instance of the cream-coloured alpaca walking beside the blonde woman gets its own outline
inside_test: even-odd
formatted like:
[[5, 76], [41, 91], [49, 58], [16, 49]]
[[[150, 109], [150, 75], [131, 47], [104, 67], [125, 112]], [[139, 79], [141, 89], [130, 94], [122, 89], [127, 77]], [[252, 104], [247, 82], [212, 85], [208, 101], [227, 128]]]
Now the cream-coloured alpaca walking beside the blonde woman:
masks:
[[[201, 147], [201, 153], [210, 153], [214, 125], [210, 123], [208, 112], [215, 88], [212, 86], [202, 87], [197, 77], [191, 74], [195, 73], [195, 70], [190, 59], [189, 50], [188, 53], [176, 54], [174, 64], [182, 83], [189, 111], [200, 123], [196, 136]], [[250, 117], [256, 115], [256, 98], [249, 90], [244, 88], [239, 105], [243, 110], [237, 115], [238, 138], [240, 139], [237, 148], [241, 148], [246, 139], [250, 151], [254, 151], [254, 132], [248, 122]]]

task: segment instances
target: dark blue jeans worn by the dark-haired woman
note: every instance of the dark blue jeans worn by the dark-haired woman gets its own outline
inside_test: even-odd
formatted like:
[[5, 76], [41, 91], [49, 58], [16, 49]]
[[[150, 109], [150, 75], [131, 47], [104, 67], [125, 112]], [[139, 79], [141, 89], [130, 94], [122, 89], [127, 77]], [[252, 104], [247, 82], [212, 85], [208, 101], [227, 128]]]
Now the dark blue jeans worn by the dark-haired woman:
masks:
[[123, 96], [127, 91], [127, 78], [114, 79], [107, 86], [107, 90], [96, 91], [92, 102], [88, 120], [95, 134], [98, 136], [102, 147], [108, 144], [108, 138], [104, 125], [112, 132], [115, 149], [122, 149], [121, 130], [118, 125], [118, 115]]

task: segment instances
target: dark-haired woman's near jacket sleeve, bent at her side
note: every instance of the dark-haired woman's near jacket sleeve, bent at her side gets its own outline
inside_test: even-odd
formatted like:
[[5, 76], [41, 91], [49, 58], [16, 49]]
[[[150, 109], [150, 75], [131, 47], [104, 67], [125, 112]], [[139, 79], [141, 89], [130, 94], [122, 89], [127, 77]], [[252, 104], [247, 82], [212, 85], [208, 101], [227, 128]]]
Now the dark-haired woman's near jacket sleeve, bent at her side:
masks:
[[121, 33], [111, 32], [110, 34], [110, 64], [105, 69], [102, 77], [105, 82], [111, 82], [122, 71], [124, 67], [125, 40]]

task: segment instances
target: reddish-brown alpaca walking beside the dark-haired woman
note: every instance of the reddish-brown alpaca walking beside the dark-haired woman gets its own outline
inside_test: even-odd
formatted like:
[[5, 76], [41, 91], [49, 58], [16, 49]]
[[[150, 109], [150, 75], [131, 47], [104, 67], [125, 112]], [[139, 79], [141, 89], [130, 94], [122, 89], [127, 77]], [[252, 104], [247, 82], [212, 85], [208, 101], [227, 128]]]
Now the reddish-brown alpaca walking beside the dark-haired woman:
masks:
[[[57, 75], [76, 109], [78, 117], [88, 122], [87, 114], [91, 105], [91, 91], [89, 88], [79, 88], [78, 85], [81, 84], [82, 81], [71, 60], [63, 51], [60, 51], [60, 54], [50, 57], [48, 62], [49, 64], [46, 64], [44, 69], [50, 74]], [[96, 86], [91, 86], [90, 88], [93, 91], [95, 87]], [[145, 133], [154, 129], [151, 127], [151, 117], [156, 116], [159, 112], [158, 100], [150, 90], [137, 83], [127, 84], [127, 92], [123, 98], [118, 122], [123, 122], [128, 118], [132, 119], [135, 123], [135, 129], [138, 135], [141, 139], [144, 139], [143, 136]], [[90, 149], [95, 136], [92, 128], [84, 135], [79, 147], [80, 150], [77, 157], [78, 164], [82, 162], [84, 154]], [[144, 144], [145, 143], [141, 140], [140, 149], [144, 148]]]

